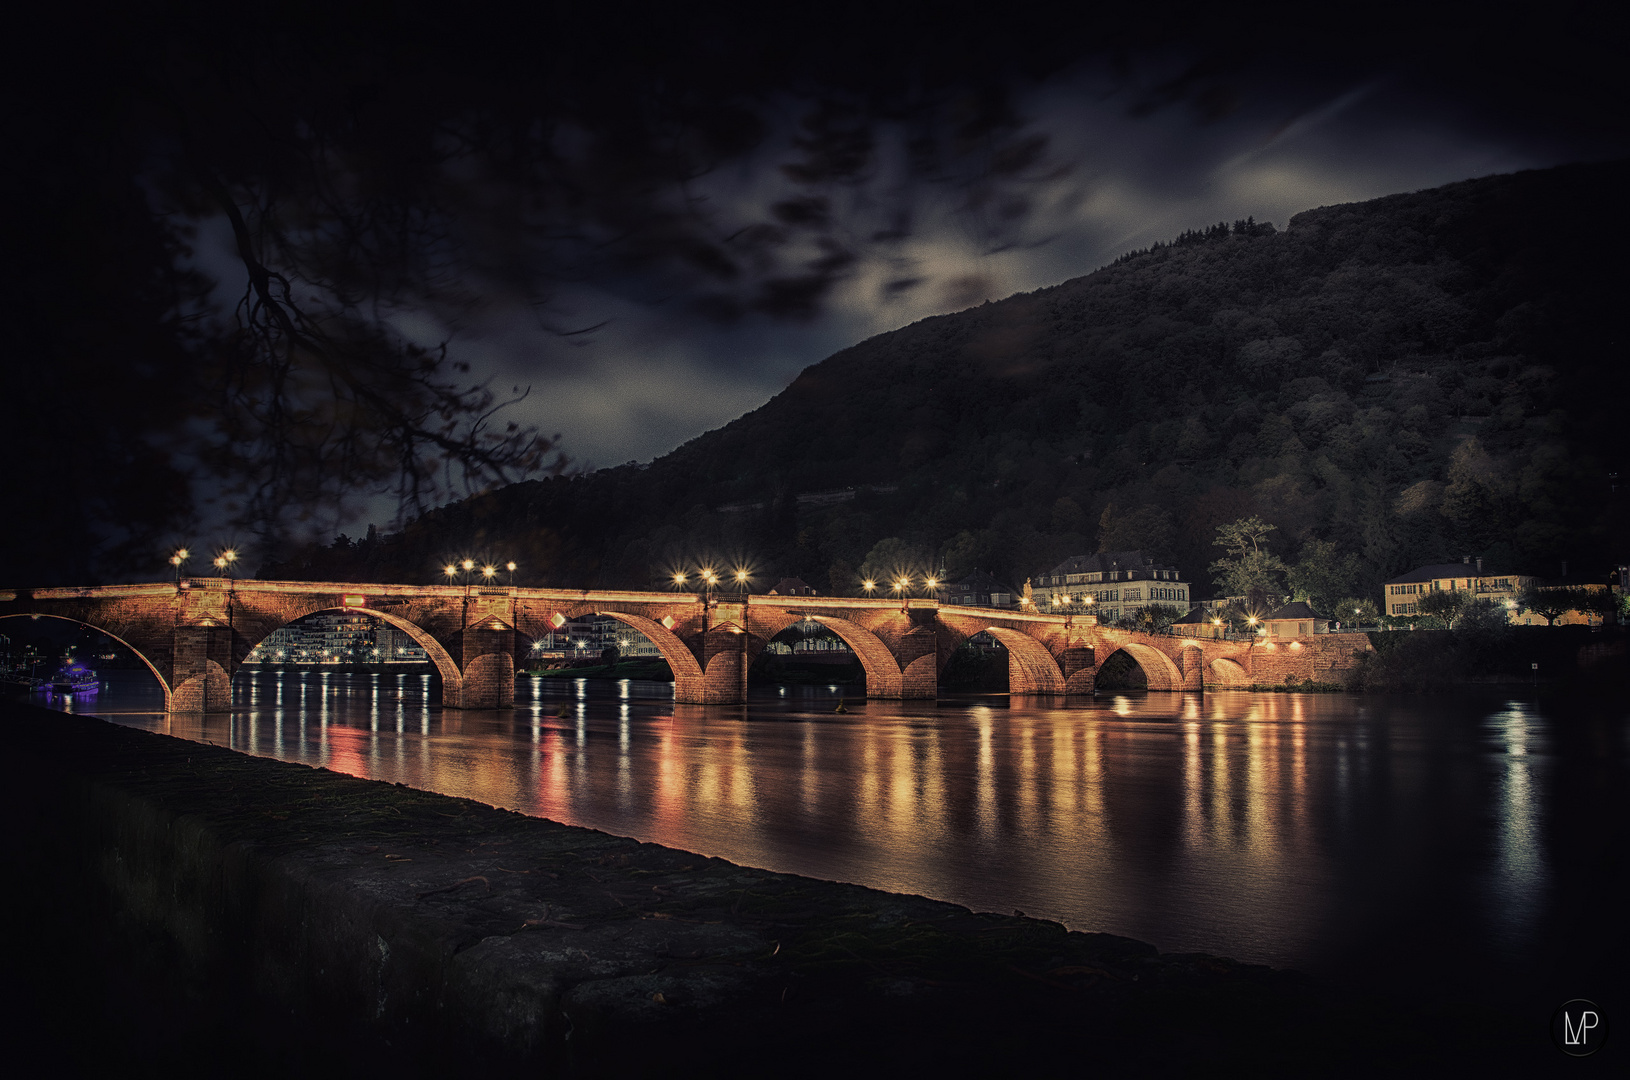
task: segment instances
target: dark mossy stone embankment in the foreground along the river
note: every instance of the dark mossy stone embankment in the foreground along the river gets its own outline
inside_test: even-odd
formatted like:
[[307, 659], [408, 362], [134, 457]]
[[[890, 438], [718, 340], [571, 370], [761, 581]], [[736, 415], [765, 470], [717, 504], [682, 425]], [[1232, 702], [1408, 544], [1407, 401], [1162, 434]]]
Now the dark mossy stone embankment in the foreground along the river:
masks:
[[[26, 989], [23, 1038], [82, 1070], [1537, 1064], [1504, 1016], [1423, 1015], [1293, 972], [0, 709], [23, 951], [5, 977]], [[104, 1034], [75, 1038], [86, 1030]]]

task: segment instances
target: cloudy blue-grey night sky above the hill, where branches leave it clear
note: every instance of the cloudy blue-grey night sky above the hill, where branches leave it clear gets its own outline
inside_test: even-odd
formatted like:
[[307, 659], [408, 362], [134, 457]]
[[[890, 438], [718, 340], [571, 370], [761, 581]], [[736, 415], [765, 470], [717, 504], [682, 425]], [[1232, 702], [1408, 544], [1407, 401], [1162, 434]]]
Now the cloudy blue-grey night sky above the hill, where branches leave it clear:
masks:
[[[1015, 18], [1029, 18], [1020, 11]], [[761, 406], [838, 349], [1090, 274], [1187, 228], [1245, 217], [1283, 228], [1312, 207], [1622, 156], [1630, 138], [1617, 124], [1622, 103], [1610, 99], [1609, 72], [1571, 88], [1558, 81], [1565, 57], [1596, 52], [1591, 31], [1606, 15], [1591, 5], [1571, 18], [1552, 11], [1542, 28], [1500, 26], [1483, 7], [1474, 31], [1444, 8], [1443, 24], [1402, 23], [1418, 34], [1413, 47], [1408, 34], [1386, 33], [1382, 8], [1351, 13], [1361, 20], [1356, 41], [1338, 41], [1348, 33], [1340, 18], [1286, 24], [1249, 62], [1222, 68], [1221, 106], [1201, 91], [1198, 103], [1151, 108], [1152, 88], [1208, 55], [1182, 28], [1113, 62], [1084, 49], [1045, 78], [1009, 73], [1017, 135], [1046, 140], [1045, 158], [1020, 178], [1027, 210], [1012, 220], [970, 210], [965, 178], [910, 184], [908, 135], [883, 122], [874, 168], [825, 194], [839, 233], [864, 238], [905, 205], [911, 235], [887, 249], [857, 244], [862, 257], [818, 311], [799, 318], [720, 321], [698, 313], [685, 282], [611, 275], [551, 285], [541, 305], [491, 287], [484, 308], [456, 326], [425, 311], [399, 313], [393, 324], [427, 345], [448, 340], [452, 357], [500, 389], [530, 386], [513, 415], [559, 432], [579, 468], [649, 461]], [[1534, 39], [1522, 42], [1521, 33]], [[1320, 49], [1330, 54], [1324, 62]], [[764, 109], [763, 145], [691, 186], [720, 215], [722, 233], [794, 194], [781, 166], [805, 106], [789, 88]], [[199, 264], [235, 295], [243, 270], [230, 230], [222, 218], [202, 230]], [[888, 287], [901, 279], [913, 285]]]

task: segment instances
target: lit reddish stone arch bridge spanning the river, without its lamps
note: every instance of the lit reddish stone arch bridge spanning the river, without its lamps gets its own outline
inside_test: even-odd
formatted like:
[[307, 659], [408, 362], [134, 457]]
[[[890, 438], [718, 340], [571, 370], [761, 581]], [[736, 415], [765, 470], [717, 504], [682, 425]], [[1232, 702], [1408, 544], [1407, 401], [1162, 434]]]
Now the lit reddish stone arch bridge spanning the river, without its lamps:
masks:
[[[223, 712], [231, 676], [272, 630], [319, 611], [377, 616], [424, 647], [445, 709], [509, 709], [531, 642], [579, 616], [644, 634], [673, 670], [678, 702], [747, 700], [747, 673], [773, 637], [813, 619], [866, 670], [867, 697], [934, 697], [958, 645], [985, 632], [1007, 648], [1014, 694], [1090, 694], [1126, 652], [1151, 691], [1330, 681], [1369, 650], [1363, 634], [1289, 642], [1214, 642], [1115, 630], [1090, 617], [996, 611], [932, 599], [743, 596], [445, 585], [333, 585], [184, 578], [179, 583], [0, 591], [0, 619], [54, 617], [95, 627], [140, 656], [170, 712]], [[3, 622], [0, 622], [3, 626]]]

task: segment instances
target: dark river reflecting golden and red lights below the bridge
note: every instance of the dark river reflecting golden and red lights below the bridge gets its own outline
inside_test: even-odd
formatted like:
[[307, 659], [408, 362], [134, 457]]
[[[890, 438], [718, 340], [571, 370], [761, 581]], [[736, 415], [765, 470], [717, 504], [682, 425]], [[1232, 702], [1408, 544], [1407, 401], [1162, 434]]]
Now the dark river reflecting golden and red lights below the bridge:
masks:
[[836, 687], [701, 707], [662, 683], [523, 676], [512, 712], [458, 713], [427, 704], [429, 676], [341, 671], [244, 671], [235, 696], [231, 715], [166, 718], [150, 676], [112, 671], [57, 707], [1162, 951], [1547, 1015], [1622, 984], [1622, 702], [967, 696], [836, 713]]

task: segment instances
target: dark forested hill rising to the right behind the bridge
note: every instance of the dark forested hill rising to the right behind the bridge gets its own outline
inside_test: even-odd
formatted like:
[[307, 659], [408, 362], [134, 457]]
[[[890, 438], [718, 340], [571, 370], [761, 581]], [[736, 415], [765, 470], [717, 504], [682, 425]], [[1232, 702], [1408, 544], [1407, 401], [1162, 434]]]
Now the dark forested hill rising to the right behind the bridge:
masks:
[[1630, 163], [1579, 165], [1190, 233], [861, 342], [649, 466], [262, 575], [429, 582], [469, 552], [649, 586], [742, 559], [843, 591], [869, 559], [1022, 582], [1146, 547], [1203, 596], [1250, 513], [1327, 593], [1462, 555], [1594, 573], [1630, 555], [1625, 191]]

